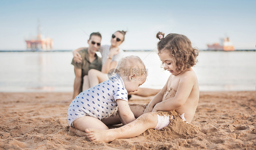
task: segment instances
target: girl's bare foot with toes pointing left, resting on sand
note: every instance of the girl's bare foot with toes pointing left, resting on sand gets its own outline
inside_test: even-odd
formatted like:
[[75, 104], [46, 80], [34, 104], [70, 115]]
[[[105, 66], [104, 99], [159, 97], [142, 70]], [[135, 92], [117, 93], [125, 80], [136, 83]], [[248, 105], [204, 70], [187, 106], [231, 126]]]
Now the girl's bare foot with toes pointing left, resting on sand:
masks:
[[100, 129], [85, 129], [87, 137], [90, 141], [103, 141], [109, 143], [115, 140], [113, 134], [110, 133], [110, 130], [100, 130]]

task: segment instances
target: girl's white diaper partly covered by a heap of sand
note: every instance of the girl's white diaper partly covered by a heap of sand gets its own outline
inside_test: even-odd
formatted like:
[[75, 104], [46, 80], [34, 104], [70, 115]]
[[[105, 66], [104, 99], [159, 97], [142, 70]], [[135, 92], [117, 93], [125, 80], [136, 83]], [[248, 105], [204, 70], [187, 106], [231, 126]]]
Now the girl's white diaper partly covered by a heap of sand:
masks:
[[[185, 113], [183, 113], [182, 115], [180, 115], [180, 117], [181, 117], [181, 119], [182, 119], [183, 121], [185, 121], [186, 123], [188, 123], [187, 120], [185, 120], [184, 115], [185, 115]], [[157, 114], [157, 118], [158, 118], [158, 120], [157, 120], [157, 126], [156, 126], [154, 129], [161, 130], [161, 129], [163, 129], [164, 127], [166, 127], [167, 125], [170, 124], [170, 121], [169, 121], [169, 120], [170, 120], [170, 115], [168, 115], [168, 116], [166, 116], [166, 115], [160, 116], [159, 114]], [[171, 119], [173, 119], [173, 116], [171, 116]]]

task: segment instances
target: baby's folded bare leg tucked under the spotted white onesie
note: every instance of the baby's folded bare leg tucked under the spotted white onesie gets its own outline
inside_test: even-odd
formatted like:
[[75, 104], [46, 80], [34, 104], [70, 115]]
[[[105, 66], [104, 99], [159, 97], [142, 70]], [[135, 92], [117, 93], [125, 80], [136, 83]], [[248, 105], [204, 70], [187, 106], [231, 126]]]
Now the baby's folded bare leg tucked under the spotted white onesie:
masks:
[[102, 130], [108, 129], [108, 127], [103, 122], [91, 116], [84, 116], [78, 118], [77, 120], [73, 121], [73, 125], [74, 128], [70, 127], [69, 131], [75, 133], [78, 136], [86, 136], [85, 129], [87, 128], [95, 128]]

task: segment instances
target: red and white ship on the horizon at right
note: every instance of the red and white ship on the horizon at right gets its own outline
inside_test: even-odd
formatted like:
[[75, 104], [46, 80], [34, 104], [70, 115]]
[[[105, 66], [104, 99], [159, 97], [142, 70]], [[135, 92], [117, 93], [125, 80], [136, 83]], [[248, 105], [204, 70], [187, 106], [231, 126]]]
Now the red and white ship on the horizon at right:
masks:
[[235, 47], [229, 40], [229, 38], [221, 38], [220, 43], [214, 43], [212, 45], [207, 44], [209, 51], [234, 51]]

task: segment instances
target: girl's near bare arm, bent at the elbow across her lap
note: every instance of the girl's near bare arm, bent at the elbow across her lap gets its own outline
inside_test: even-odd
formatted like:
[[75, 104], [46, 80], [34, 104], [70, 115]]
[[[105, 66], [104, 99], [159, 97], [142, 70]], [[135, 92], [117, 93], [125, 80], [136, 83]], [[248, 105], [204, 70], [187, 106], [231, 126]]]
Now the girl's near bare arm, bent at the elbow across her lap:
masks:
[[188, 96], [190, 95], [191, 90], [193, 88], [193, 85], [193, 77], [190, 77], [188, 75], [183, 76], [182, 78], [180, 78], [178, 89], [175, 96], [156, 104], [152, 112], [178, 109], [187, 101]]

